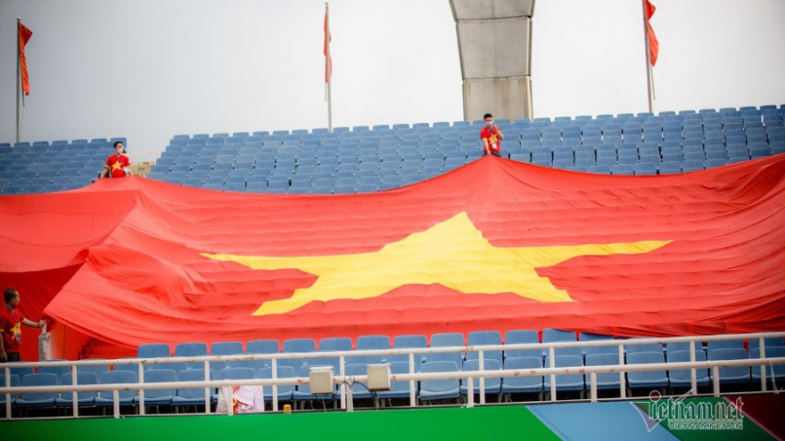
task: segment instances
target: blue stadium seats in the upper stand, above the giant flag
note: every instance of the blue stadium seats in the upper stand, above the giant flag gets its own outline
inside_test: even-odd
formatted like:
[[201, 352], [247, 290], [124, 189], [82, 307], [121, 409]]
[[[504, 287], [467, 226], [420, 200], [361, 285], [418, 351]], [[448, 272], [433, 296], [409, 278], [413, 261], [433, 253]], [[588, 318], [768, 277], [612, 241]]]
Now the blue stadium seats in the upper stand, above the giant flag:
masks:
[[[761, 106], [497, 122], [506, 133], [503, 154], [508, 159], [598, 174], [665, 175], [785, 151], [783, 112]], [[175, 135], [148, 177], [234, 192], [389, 190], [480, 158], [479, 124]], [[0, 144], [0, 194], [90, 184], [112, 141]]]

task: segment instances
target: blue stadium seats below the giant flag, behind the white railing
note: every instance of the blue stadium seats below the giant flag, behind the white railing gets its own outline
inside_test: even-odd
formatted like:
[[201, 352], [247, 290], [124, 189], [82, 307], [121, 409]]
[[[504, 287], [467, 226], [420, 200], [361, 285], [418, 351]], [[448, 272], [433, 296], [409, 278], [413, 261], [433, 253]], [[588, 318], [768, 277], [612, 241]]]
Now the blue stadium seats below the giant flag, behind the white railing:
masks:
[[[565, 341], [597, 341], [623, 342], [624, 363], [684, 363], [691, 359], [696, 361], [737, 360], [759, 358], [761, 348], [757, 339], [749, 339], [748, 343], [742, 339], [710, 340], [706, 347], [698, 344], [694, 355], [690, 355], [690, 343], [662, 344], [636, 344], [635, 339], [615, 340], [607, 336], [594, 334], [576, 334], [573, 331], [544, 330], [541, 339], [537, 331], [519, 330], [507, 331], [504, 334], [504, 343], [533, 344]], [[464, 339], [463, 334], [442, 333], [434, 334], [430, 338], [429, 347], [463, 347], [464, 345], [482, 347], [487, 345], [500, 345], [501, 333], [498, 331], [470, 332]], [[783, 339], [765, 339], [765, 356], [785, 356], [785, 341]], [[425, 335], [399, 336], [393, 339], [392, 348], [417, 348], [428, 347]], [[277, 363], [277, 378], [308, 377], [310, 368], [315, 366], [330, 366], [334, 372], [340, 372], [339, 361], [334, 358], [309, 358], [309, 354], [316, 352], [336, 352], [363, 350], [363, 349], [390, 349], [390, 339], [386, 336], [361, 336], [356, 340], [356, 347], [352, 348], [352, 341], [348, 338], [321, 339], [288, 339], [284, 341], [282, 354], [301, 354], [302, 359], [281, 359]], [[238, 355], [238, 354], [277, 354], [277, 340], [255, 340], [247, 345], [242, 342], [219, 342], [210, 347], [210, 355]], [[175, 347], [175, 356], [200, 356], [208, 355], [205, 343], [183, 343]], [[138, 348], [139, 358], [166, 358], [170, 356], [169, 345], [148, 344]], [[548, 350], [541, 348], [515, 349], [502, 351], [484, 351], [484, 370], [527, 370], [549, 367], [550, 357]], [[419, 359], [417, 359], [419, 358]], [[371, 363], [390, 363], [392, 373], [409, 372], [409, 355], [358, 355], [347, 356], [345, 359], [346, 375], [364, 375]], [[291, 363], [296, 361], [298, 363]], [[554, 365], [556, 367], [582, 367], [603, 366], [619, 363], [617, 346], [586, 346], [586, 347], [559, 347], [554, 348]], [[302, 362], [302, 363], [300, 363]], [[113, 369], [111, 369], [113, 364]], [[105, 364], [82, 365], [78, 367], [77, 384], [123, 384], [137, 381], [138, 365], [135, 363], [109, 362]], [[479, 353], [476, 351], [434, 353], [417, 355], [414, 369], [416, 372], [474, 372], [480, 370]], [[768, 366], [767, 379], [770, 381], [785, 380], [785, 366]], [[714, 380], [714, 372], [706, 369], [696, 370], [698, 388], [707, 390]], [[733, 386], [737, 390], [756, 390], [761, 379], [760, 370], [756, 368], [722, 368], [718, 371], [720, 384], [723, 388]], [[32, 369], [12, 369], [10, 382], [12, 386], [53, 386], [73, 384], [73, 372], [68, 366], [39, 366], [37, 372]], [[204, 363], [146, 363], [145, 382], [173, 382], [173, 381], [199, 381], [205, 380]], [[272, 368], [268, 360], [238, 360], [227, 362], [211, 362], [209, 377], [211, 380], [243, 380], [243, 379], [270, 379], [273, 378]], [[21, 381], [20, 381], [21, 379]], [[0, 377], [4, 381], [4, 378]], [[550, 390], [549, 376], [544, 377], [509, 377], [487, 378], [484, 380], [484, 390], [489, 396], [496, 396], [498, 401], [516, 401], [520, 399], [548, 399]], [[691, 386], [690, 370], [663, 370], [655, 372], [628, 372], [625, 384], [631, 396], [636, 396], [636, 390], [648, 394], [651, 389], [660, 389], [663, 392], [683, 391]], [[608, 394], [616, 394], [621, 386], [621, 378], [617, 373], [599, 373], [597, 375], [597, 388]], [[409, 381], [393, 382], [392, 390], [379, 392], [378, 398], [392, 400], [395, 398], [406, 399], [409, 397]], [[414, 385], [415, 395], [420, 403], [437, 400], [466, 400], [468, 394], [467, 380], [421, 380]], [[475, 395], [478, 392], [478, 382], [472, 386]], [[591, 388], [589, 375], [566, 375], [556, 379], [558, 394], [575, 392], [583, 396]], [[362, 384], [352, 386], [355, 399], [368, 399], [371, 394]], [[277, 388], [279, 402], [294, 402], [295, 406], [315, 400], [334, 398], [339, 393], [339, 386], [335, 386], [334, 396], [316, 396], [310, 393], [309, 385], [281, 386]], [[266, 401], [272, 400], [271, 388], [265, 390]], [[639, 394], [640, 395], [640, 394]], [[2, 397], [4, 400], [4, 397]], [[80, 393], [78, 405], [81, 407], [106, 407], [112, 405], [110, 392]], [[218, 396], [215, 389], [211, 390], [211, 403], [217, 402]], [[0, 402], [4, 404], [3, 402]], [[148, 406], [196, 406], [204, 403], [203, 388], [169, 388], [145, 391], [145, 405]], [[392, 401], [391, 401], [392, 403]], [[140, 405], [136, 390], [120, 391], [120, 405], [134, 407]], [[22, 394], [12, 396], [12, 405], [18, 408], [51, 408], [72, 407], [73, 401], [70, 393]]]

